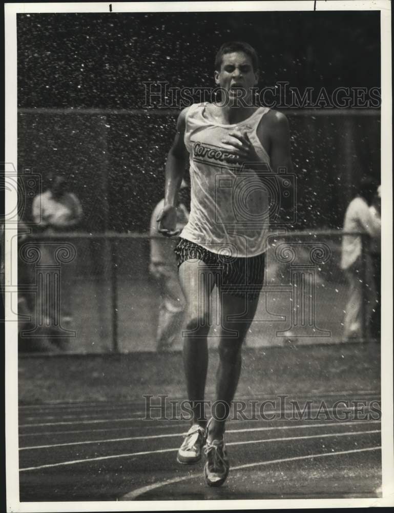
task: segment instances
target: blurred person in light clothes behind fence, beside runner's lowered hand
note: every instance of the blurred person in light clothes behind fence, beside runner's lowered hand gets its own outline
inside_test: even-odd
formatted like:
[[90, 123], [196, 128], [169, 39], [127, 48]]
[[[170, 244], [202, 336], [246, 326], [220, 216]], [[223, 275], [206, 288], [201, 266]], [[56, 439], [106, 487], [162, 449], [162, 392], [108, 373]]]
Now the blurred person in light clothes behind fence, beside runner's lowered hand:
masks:
[[[176, 229], [181, 231], [189, 220], [189, 188], [183, 180], [178, 193]], [[151, 216], [151, 263], [149, 270], [160, 288], [159, 317], [156, 332], [157, 351], [171, 350], [180, 334], [185, 300], [180, 288], [174, 248], [176, 242], [164, 237], [159, 230], [157, 218], [164, 207], [164, 198], [159, 201]]]

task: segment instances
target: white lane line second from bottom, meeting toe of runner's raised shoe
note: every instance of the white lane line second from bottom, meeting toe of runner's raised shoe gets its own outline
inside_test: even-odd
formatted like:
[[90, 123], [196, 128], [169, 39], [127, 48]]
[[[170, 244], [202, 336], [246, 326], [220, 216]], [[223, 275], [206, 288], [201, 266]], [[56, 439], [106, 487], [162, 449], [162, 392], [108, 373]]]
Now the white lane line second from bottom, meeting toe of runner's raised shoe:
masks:
[[[374, 429], [371, 431], [349, 431], [347, 433], [324, 433], [323, 435], [306, 435], [304, 437], [282, 437], [282, 438], [266, 438], [264, 440], [246, 440], [244, 442], [230, 442], [226, 445], [246, 445], [252, 443], [266, 443], [266, 442], [278, 442], [278, 441], [289, 441], [289, 440], [306, 440], [312, 438], [328, 438], [328, 437], [344, 437], [350, 435], [367, 435], [368, 433], [380, 433], [380, 429]], [[157, 450], [148, 450], [148, 451], [140, 451], [140, 452], [131, 452], [128, 454], [116, 454], [110, 456], [99, 456], [96, 458], [86, 458], [85, 460], [71, 460], [71, 461], [62, 461], [59, 463], [48, 463], [46, 465], [39, 465], [37, 467], [26, 467], [20, 468], [19, 472], [24, 472], [26, 470], [37, 470], [40, 468], [50, 468], [50, 467], [60, 467], [63, 465], [75, 465], [76, 463], [87, 463], [89, 461], [101, 461], [101, 460], [112, 460], [116, 458], [129, 458], [133, 456], [146, 456], [149, 454], [158, 454], [162, 452], [172, 452], [177, 451], [178, 447], [172, 449], [157, 449]]]

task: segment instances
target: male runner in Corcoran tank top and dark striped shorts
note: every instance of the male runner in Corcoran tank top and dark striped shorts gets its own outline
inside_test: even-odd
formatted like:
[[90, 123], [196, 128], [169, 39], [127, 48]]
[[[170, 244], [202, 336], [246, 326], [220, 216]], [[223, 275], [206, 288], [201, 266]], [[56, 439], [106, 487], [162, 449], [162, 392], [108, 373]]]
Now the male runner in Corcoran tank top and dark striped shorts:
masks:
[[[241, 370], [241, 346], [253, 320], [264, 275], [268, 230], [267, 188], [252, 168], [292, 172], [286, 117], [253, 102], [258, 57], [248, 44], [219, 49], [215, 83], [219, 102], [194, 104], [178, 118], [165, 167], [165, 204], [159, 231], [176, 234], [176, 194], [186, 159], [190, 160], [191, 213], [175, 249], [184, 291], [186, 332], [183, 356], [186, 386], [193, 409], [177, 459], [195, 463], [205, 447], [205, 481], [220, 486], [229, 472], [224, 444]], [[203, 411], [208, 366], [210, 296], [219, 289], [221, 333], [218, 345], [218, 407], [206, 424]]]

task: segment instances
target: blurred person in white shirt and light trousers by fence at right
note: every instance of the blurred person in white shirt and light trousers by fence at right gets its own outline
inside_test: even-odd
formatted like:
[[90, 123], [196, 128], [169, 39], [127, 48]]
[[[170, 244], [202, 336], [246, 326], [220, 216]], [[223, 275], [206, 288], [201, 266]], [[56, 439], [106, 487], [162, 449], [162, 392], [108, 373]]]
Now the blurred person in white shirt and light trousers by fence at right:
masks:
[[[380, 219], [372, 215], [370, 205], [376, 187], [372, 179], [362, 179], [359, 194], [348, 205], [343, 229], [345, 232], [364, 232], [371, 238], [380, 236]], [[374, 269], [369, 252], [369, 240], [361, 235], [344, 235], [342, 239], [341, 268], [345, 271], [349, 284], [348, 301], [345, 308], [344, 340], [361, 339], [363, 323], [366, 327], [364, 338], [371, 338], [370, 321], [377, 306], [377, 291]], [[363, 288], [365, 280], [365, 300], [363, 311]]]

